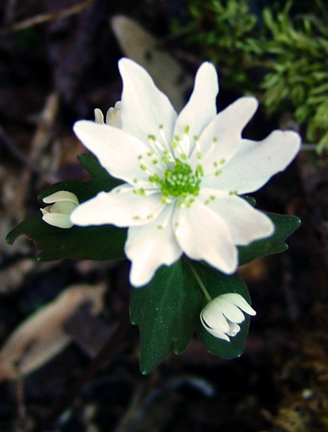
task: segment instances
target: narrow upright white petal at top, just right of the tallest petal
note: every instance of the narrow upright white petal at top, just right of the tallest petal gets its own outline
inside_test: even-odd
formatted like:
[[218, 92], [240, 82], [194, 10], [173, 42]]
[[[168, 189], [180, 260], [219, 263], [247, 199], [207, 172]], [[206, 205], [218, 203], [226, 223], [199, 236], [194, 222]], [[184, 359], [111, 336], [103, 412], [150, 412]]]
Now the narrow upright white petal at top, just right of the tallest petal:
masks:
[[[219, 91], [218, 76], [213, 64], [205, 62], [198, 69], [195, 77], [194, 90], [189, 102], [178, 116], [174, 135], [181, 139], [184, 129], [189, 126], [189, 135], [200, 136], [205, 127], [216, 116], [216, 96]], [[189, 156], [193, 148], [187, 151]]]

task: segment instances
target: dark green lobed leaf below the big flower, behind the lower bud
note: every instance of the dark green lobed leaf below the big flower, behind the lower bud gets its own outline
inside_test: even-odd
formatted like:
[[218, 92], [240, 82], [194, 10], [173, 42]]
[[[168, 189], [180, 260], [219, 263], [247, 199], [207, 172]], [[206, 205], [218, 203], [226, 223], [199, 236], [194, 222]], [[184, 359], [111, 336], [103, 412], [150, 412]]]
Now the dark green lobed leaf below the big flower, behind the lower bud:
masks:
[[170, 267], [161, 267], [146, 287], [134, 289], [131, 295], [130, 317], [141, 334], [140, 370], [143, 374], [158, 366], [171, 351], [180, 354], [195, 328], [204, 347], [212, 354], [230, 359], [243, 352], [249, 318], [246, 317], [240, 333], [231, 342], [211, 336], [199, 320], [204, 296], [188, 264], [194, 267], [212, 298], [236, 292], [250, 301], [246, 285], [236, 275], [226, 276], [186, 259]]

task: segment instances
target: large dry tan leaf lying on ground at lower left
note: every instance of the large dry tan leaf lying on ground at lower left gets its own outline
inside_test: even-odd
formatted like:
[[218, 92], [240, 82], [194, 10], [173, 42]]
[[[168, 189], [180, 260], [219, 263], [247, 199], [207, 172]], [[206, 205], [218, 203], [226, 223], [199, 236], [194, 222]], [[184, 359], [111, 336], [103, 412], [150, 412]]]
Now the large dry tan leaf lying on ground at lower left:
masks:
[[66, 321], [87, 303], [90, 313], [98, 314], [105, 289], [104, 284], [73, 285], [27, 318], [0, 351], [0, 381], [28, 375], [62, 351], [72, 340]]

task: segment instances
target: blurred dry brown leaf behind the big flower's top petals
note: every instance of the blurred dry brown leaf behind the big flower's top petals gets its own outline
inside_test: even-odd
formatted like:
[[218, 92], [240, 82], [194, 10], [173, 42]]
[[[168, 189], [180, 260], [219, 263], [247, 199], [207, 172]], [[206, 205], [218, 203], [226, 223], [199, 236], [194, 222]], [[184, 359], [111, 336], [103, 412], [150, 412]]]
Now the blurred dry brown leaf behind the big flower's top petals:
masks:
[[117, 15], [111, 25], [124, 54], [150, 73], [157, 87], [180, 111], [185, 104], [184, 93], [192, 86], [192, 78], [170, 54], [159, 49], [159, 40], [136, 21]]

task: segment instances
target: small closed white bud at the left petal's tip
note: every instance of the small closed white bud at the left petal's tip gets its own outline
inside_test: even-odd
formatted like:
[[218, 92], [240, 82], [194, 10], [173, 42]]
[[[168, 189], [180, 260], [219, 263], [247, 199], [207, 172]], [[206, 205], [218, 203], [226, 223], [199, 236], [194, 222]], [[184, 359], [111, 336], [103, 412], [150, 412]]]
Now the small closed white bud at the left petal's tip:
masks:
[[43, 202], [46, 204], [54, 203], [40, 209], [42, 219], [49, 225], [58, 228], [71, 228], [74, 225], [69, 216], [75, 207], [79, 205], [79, 200], [75, 194], [68, 191], [59, 191], [43, 198]]

